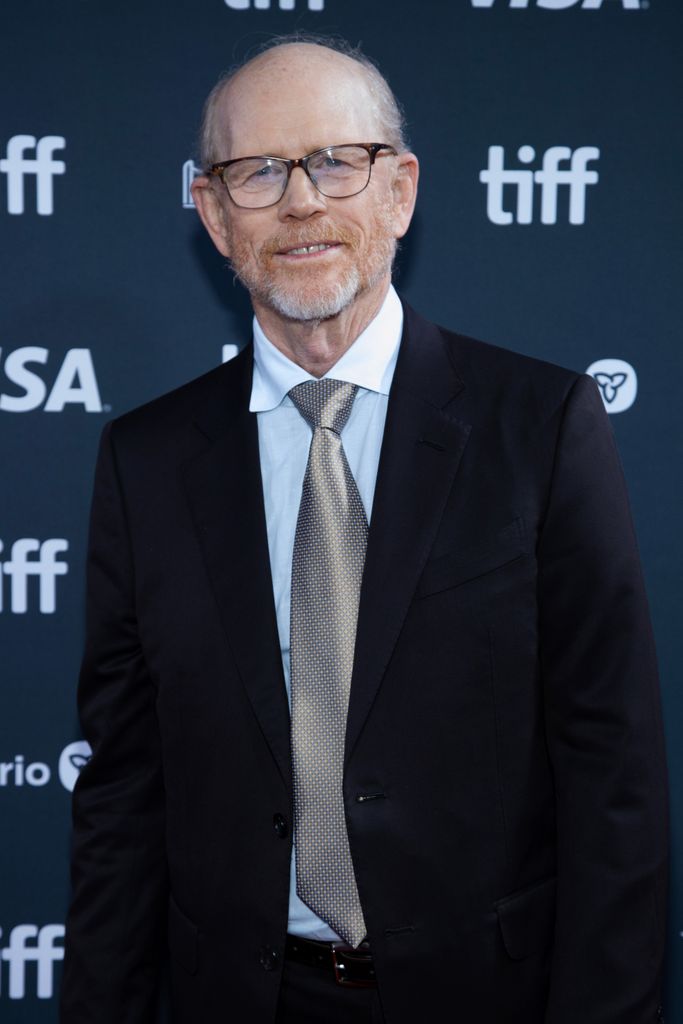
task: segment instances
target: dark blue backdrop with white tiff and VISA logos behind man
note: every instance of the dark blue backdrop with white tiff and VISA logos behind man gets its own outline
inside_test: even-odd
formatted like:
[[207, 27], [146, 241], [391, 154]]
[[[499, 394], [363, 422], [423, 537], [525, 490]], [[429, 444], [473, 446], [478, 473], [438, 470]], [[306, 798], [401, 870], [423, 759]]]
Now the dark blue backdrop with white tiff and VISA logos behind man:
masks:
[[399, 290], [587, 370], [612, 414], [660, 656], [683, 1020], [679, 0], [23, 0], [0, 25], [0, 1019], [57, 1017], [97, 439], [250, 337], [193, 208], [197, 129], [219, 74], [299, 30], [361, 43], [405, 108]]

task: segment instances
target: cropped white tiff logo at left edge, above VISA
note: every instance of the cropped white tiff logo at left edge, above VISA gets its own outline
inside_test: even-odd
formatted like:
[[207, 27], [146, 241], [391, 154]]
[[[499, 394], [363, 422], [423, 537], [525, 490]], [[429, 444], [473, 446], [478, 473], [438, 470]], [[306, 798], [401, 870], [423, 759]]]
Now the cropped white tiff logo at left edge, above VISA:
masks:
[[[7, 152], [0, 160], [0, 171], [7, 175], [7, 212], [24, 213], [25, 182], [27, 175], [36, 177], [36, 212], [42, 217], [49, 217], [53, 212], [52, 178], [55, 174], [63, 174], [67, 165], [63, 160], [54, 160], [56, 150], [63, 150], [67, 144], [62, 135], [43, 135], [37, 139], [35, 135], [12, 135], [7, 142]], [[27, 157], [29, 150], [35, 150], [35, 157]]]

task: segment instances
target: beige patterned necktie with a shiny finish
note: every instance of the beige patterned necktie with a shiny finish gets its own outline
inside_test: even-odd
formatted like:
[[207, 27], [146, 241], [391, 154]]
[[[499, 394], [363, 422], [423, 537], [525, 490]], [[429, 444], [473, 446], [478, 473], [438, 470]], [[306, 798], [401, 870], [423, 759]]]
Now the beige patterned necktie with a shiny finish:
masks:
[[352, 946], [366, 936], [346, 833], [344, 737], [368, 520], [341, 431], [357, 388], [304, 381], [313, 428], [292, 561], [291, 679], [297, 892]]

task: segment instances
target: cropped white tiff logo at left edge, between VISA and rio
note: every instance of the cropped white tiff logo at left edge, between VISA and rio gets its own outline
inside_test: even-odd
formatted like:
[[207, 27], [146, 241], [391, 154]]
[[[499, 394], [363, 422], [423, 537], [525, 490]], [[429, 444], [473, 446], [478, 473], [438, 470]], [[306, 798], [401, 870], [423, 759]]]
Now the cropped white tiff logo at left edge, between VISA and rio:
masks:
[[[58, 561], [57, 555], [69, 550], [68, 541], [53, 538], [49, 541], [36, 541], [25, 537], [14, 541], [11, 554], [4, 564], [0, 561], [0, 612], [4, 611], [2, 583], [3, 575], [8, 575], [9, 611], [14, 614], [26, 614], [29, 608], [29, 577], [38, 578], [38, 607], [42, 614], [50, 615], [56, 610], [56, 578], [66, 575], [69, 571], [67, 562]], [[0, 541], [0, 554], [3, 544]], [[36, 558], [30, 557], [37, 555]]]

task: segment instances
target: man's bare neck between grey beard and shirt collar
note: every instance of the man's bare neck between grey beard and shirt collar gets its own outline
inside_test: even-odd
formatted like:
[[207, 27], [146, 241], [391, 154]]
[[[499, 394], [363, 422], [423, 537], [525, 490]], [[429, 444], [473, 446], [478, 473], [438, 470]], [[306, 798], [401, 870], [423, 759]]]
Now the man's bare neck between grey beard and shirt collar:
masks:
[[254, 312], [275, 348], [312, 377], [323, 377], [377, 316], [389, 285], [387, 276], [329, 319], [286, 319], [258, 301], [253, 302]]

